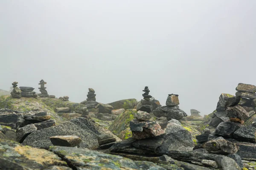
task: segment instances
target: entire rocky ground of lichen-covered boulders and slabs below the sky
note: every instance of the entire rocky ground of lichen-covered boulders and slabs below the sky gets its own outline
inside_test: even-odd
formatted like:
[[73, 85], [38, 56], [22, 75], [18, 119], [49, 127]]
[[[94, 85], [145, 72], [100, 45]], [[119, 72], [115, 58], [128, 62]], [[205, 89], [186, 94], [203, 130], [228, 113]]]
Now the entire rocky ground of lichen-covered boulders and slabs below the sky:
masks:
[[187, 116], [175, 94], [161, 106], [148, 87], [140, 102], [109, 104], [0, 96], [0, 169], [253, 170], [254, 100], [242, 96], [253, 97], [254, 86], [237, 90], [204, 117]]

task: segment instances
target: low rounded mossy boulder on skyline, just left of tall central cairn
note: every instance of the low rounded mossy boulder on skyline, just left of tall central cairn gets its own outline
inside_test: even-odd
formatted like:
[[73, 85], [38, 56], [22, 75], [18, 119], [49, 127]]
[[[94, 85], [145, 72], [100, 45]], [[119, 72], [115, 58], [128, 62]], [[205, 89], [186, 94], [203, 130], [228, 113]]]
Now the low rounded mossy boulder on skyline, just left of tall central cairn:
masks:
[[108, 105], [113, 106], [116, 109], [133, 109], [134, 106], [137, 106], [138, 101], [136, 99], [124, 99], [116, 102], [108, 103]]

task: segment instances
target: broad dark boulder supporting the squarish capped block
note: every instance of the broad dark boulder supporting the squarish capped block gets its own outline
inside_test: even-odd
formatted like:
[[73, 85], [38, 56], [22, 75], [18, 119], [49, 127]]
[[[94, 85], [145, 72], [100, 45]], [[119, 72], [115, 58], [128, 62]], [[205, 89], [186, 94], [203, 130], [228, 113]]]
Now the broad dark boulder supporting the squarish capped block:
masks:
[[171, 119], [181, 119], [184, 116], [186, 117], [187, 114], [182, 111], [180, 108], [177, 108], [177, 106], [162, 106], [160, 108], [157, 108], [153, 111], [154, 116], [157, 117], [166, 117], [167, 120]]

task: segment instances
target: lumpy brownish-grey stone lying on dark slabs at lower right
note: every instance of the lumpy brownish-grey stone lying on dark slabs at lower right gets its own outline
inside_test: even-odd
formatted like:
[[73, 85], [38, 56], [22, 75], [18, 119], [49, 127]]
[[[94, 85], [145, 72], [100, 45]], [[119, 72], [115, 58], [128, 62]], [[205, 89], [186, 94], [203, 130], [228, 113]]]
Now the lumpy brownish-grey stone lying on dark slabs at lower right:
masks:
[[229, 153], [237, 153], [238, 147], [236, 144], [225, 140], [222, 137], [218, 137], [215, 140], [206, 142], [202, 146], [210, 153], [227, 155]]

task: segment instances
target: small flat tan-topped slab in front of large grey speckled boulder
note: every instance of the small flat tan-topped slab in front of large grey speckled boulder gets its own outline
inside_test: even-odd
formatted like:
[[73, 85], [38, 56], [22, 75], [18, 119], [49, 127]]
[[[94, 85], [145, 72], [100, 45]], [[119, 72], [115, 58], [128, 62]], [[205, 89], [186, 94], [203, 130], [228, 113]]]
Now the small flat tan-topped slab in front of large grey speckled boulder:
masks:
[[52, 136], [50, 140], [55, 146], [75, 147], [82, 141], [78, 136]]

